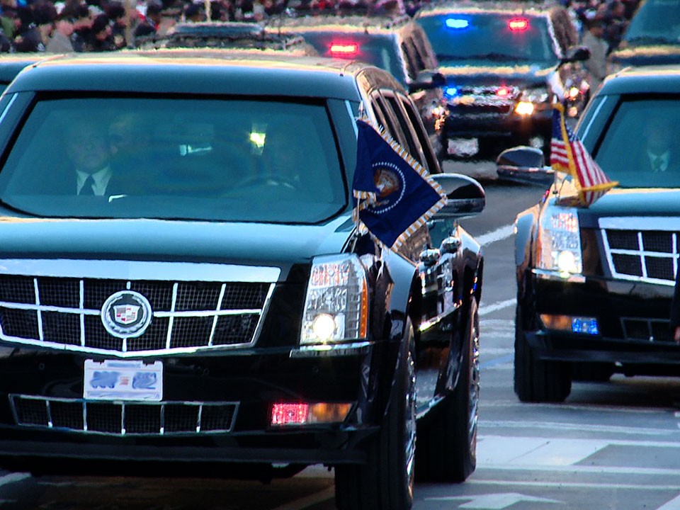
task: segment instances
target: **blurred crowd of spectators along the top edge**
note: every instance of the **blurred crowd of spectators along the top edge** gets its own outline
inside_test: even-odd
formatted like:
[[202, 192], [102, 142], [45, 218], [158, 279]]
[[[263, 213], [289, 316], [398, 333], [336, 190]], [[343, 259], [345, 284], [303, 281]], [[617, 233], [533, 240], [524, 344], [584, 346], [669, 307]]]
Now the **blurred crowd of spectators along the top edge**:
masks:
[[[332, 11], [346, 1], [0, 0], [0, 52], [119, 50], [135, 47], [140, 38], [164, 35], [176, 21], [259, 22], [270, 16], [285, 15], [293, 4], [312, 11]], [[429, 1], [375, 0], [371, 6], [412, 15], [423, 2]], [[592, 26], [602, 29], [596, 37], [606, 42], [606, 53], [621, 41], [639, 1], [565, 0], [564, 4], [587, 40]]]

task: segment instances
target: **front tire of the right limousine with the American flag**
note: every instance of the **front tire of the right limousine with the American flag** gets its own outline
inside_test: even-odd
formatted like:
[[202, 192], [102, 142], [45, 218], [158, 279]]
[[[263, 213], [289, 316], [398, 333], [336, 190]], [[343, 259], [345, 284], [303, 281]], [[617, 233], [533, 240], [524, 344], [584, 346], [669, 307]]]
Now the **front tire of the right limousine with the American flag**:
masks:
[[521, 402], [564, 402], [572, 391], [570, 365], [543, 361], [531, 352], [524, 337], [523, 313], [515, 314], [515, 393]]

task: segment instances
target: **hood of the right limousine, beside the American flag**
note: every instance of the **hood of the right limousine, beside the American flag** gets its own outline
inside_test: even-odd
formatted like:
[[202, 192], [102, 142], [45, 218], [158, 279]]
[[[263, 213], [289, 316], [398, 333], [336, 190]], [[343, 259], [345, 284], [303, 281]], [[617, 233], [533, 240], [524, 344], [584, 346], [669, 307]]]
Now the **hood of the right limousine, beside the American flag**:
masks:
[[601, 217], [676, 217], [680, 227], [680, 189], [615, 188], [589, 208], [579, 209], [582, 227], [597, 228]]

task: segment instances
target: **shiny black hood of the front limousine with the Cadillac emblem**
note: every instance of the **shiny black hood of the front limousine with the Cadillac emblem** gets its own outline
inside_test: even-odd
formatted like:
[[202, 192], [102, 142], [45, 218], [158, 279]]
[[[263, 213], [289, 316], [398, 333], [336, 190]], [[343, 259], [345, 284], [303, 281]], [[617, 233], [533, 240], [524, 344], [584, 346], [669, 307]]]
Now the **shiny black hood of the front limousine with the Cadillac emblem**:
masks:
[[342, 251], [351, 216], [324, 225], [0, 217], [0, 259], [237, 263], [276, 266]]

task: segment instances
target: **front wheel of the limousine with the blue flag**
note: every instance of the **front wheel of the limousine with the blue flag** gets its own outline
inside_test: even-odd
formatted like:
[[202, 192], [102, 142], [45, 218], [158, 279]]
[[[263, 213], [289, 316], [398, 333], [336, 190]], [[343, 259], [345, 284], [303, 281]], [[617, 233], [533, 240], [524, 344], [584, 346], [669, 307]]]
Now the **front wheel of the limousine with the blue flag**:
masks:
[[380, 433], [368, 445], [367, 462], [335, 468], [335, 499], [340, 510], [408, 510], [413, 504], [416, 373], [410, 321], [404, 341], [408, 348], [399, 360], [395, 394]]

